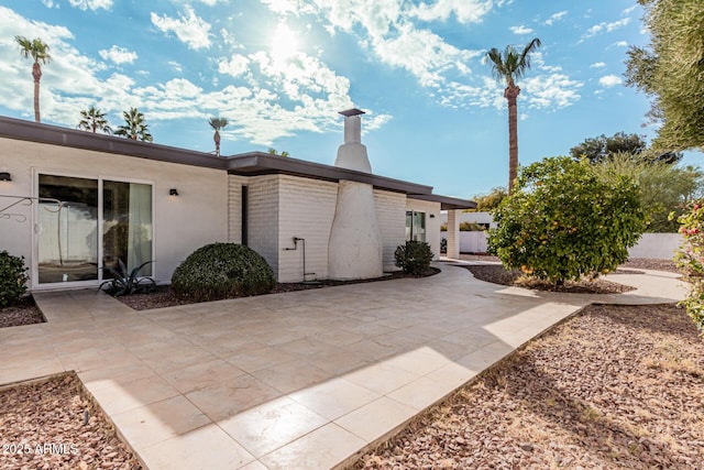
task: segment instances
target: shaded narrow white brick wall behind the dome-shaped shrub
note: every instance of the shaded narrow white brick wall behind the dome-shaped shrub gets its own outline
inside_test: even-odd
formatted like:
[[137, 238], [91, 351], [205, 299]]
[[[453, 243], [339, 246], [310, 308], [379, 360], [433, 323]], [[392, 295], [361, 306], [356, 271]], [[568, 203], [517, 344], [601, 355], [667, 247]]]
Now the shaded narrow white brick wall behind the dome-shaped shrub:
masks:
[[[274, 274], [278, 273], [279, 176], [248, 178], [248, 247], [264, 256]], [[240, 206], [234, 210], [240, 210]]]

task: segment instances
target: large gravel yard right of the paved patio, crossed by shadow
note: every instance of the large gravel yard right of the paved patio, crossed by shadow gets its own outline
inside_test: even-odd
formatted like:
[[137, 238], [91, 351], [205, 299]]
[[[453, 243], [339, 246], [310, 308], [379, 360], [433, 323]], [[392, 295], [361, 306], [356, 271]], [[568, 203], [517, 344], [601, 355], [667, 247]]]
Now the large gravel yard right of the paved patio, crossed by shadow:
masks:
[[591, 306], [355, 469], [702, 469], [704, 341], [674, 305]]

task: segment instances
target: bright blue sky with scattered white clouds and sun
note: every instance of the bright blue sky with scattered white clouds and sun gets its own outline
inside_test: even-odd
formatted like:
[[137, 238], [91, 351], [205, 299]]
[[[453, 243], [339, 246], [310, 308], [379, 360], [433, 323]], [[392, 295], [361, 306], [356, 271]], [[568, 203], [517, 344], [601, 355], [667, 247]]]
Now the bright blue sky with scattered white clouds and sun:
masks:
[[358, 107], [374, 173], [469, 198], [508, 174], [491, 47], [542, 41], [518, 83], [521, 164], [602, 133], [652, 138], [647, 97], [623, 84], [641, 15], [635, 0], [0, 0], [0, 114], [33, 120], [14, 36], [41, 37], [45, 123], [75, 128], [95, 105], [117, 128], [136, 107], [154, 142], [211, 152], [220, 116], [224, 155], [332, 164], [338, 111]]

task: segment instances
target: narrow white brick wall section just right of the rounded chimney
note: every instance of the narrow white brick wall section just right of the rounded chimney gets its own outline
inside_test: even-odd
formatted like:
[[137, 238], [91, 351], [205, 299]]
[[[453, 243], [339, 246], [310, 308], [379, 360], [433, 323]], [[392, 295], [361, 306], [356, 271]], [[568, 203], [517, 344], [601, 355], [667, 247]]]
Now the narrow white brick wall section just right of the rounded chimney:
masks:
[[374, 189], [374, 204], [378, 228], [382, 232], [384, 271], [398, 271], [394, 252], [406, 241], [406, 195]]

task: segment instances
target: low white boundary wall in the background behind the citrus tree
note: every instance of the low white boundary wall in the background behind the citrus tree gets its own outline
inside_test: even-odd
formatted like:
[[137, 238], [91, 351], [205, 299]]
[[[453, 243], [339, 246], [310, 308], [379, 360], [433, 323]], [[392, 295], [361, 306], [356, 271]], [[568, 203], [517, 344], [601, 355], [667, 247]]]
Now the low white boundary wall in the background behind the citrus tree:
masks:
[[[440, 232], [442, 239], [448, 232]], [[680, 233], [644, 233], [638, 243], [628, 250], [629, 258], [671, 260], [682, 243]], [[460, 232], [461, 253], [486, 253], [486, 232]]]

